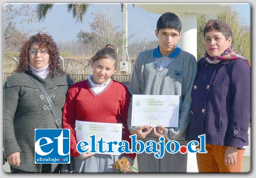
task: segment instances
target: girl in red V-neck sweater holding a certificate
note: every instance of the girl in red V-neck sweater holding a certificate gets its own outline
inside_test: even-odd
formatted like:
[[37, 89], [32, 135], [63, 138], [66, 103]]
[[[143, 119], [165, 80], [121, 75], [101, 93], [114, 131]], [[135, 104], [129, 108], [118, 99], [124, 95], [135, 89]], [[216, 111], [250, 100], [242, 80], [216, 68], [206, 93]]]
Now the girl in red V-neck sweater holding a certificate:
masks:
[[[132, 166], [136, 153], [121, 155], [79, 153], [76, 150], [75, 121], [98, 123], [122, 123], [122, 139], [131, 145], [127, 127], [130, 102], [128, 88], [111, 79], [118, 66], [117, 53], [113, 46], [99, 50], [91, 57], [93, 75], [85, 81], [73, 84], [67, 93], [63, 108], [62, 127], [70, 129], [70, 152], [74, 156], [74, 173], [114, 173], [113, 165], [125, 157]], [[130, 171], [126, 169], [123, 172]]]

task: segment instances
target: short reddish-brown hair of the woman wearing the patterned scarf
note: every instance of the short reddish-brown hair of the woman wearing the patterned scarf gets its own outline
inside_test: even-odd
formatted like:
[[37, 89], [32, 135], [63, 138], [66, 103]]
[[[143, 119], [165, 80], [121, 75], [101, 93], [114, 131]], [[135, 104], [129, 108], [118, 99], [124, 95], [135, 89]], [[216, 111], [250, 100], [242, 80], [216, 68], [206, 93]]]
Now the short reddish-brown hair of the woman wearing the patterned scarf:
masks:
[[226, 40], [229, 37], [232, 37], [232, 31], [230, 29], [230, 27], [224, 23], [223, 21], [220, 20], [209, 20], [204, 27], [204, 37], [205, 37], [205, 33], [209, 32], [209, 31], [217, 31], [217, 32], [221, 32], [221, 34], [223, 34], [226, 38]]

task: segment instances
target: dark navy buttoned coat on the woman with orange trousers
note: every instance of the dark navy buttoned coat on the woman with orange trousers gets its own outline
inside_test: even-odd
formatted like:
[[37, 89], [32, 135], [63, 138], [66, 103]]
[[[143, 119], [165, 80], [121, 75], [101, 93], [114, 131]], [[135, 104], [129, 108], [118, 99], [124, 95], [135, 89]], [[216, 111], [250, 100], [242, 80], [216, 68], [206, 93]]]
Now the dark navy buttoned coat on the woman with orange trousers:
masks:
[[248, 145], [251, 118], [251, 68], [245, 60], [209, 64], [198, 62], [192, 91], [187, 140], [205, 134], [211, 145], [243, 148]]

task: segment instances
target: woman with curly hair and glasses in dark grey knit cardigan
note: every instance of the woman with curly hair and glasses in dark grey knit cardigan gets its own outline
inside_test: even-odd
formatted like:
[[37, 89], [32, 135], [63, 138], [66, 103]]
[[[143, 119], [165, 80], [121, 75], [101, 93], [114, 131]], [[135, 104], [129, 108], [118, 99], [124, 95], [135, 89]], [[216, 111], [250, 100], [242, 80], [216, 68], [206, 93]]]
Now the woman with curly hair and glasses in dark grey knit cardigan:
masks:
[[[59, 173], [58, 164], [35, 164], [35, 129], [57, 129], [51, 106], [39, 87], [51, 97], [62, 116], [66, 93], [73, 84], [60, 66], [60, 54], [50, 35], [39, 32], [21, 47], [19, 63], [3, 88], [3, 149], [12, 173]], [[48, 106], [49, 105], [49, 106]]]

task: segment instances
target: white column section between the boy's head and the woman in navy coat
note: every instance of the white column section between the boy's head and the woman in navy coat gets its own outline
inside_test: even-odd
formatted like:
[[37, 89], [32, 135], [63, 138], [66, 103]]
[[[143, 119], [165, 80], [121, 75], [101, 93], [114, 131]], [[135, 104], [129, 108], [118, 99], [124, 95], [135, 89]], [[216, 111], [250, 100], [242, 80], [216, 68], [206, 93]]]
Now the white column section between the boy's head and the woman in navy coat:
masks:
[[178, 43], [183, 51], [191, 53], [197, 58], [197, 14], [178, 14], [181, 19], [182, 36]]

